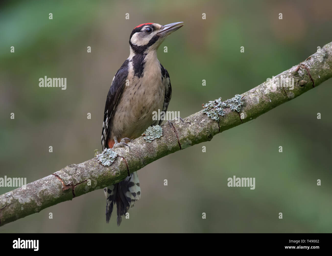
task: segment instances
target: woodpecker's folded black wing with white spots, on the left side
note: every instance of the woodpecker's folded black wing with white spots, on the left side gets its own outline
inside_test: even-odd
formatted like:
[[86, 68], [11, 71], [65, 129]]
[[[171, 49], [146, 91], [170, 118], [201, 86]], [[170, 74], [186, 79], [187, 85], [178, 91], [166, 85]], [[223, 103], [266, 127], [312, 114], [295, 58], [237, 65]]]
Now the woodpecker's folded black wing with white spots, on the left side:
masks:
[[105, 111], [104, 111], [103, 130], [102, 130], [103, 150], [107, 147], [107, 136], [110, 132], [114, 111], [118, 104], [119, 98], [123, 92], [127, 76], [128, 76], [128, 60], [126, 60], [124, 64], [122, 64], [120, 69], [115, 74], [111, 88], [107, 94]]

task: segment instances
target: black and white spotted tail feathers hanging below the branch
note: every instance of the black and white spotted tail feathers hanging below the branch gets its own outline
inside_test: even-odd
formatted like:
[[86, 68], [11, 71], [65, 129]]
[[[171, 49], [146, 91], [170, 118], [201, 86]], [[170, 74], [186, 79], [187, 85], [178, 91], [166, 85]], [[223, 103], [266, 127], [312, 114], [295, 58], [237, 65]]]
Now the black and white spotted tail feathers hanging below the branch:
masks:
[[106, 196], [106, 222], [110, 221], [113, 207], [117, 204], [117, 223], [120, 226], [122, 217], [130, 207], [141, 197], [141, 189], [137, 172], [133, 172], [130, 177], [123, 181], [111, 185], [104, 189]]

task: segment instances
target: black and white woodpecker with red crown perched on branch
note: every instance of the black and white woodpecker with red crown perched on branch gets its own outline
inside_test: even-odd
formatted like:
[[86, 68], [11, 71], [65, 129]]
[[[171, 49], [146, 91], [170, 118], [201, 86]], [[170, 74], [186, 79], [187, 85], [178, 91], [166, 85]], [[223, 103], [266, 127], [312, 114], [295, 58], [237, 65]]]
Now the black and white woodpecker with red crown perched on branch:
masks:
[[[151, 125], [153, 111], [166, 111], [172, 88], [167, 70], [157, 59], [157, 50], [183, 22], [167, 25], [144, 23], [133, 29], [129, 37], [130, 54], [113, 77], [107, 94], [102, 130], [102, 146], [118, 148], [138, 138]], [[119, 141], [120, 140], [120, 141]], [[129, 146], [128, 146], [129, 147]], [[137, 173], [104, 189], [106, 196], [106, 222], [110, 221], [113, 206], [117, 205], [117, 223], [140, 198]]]

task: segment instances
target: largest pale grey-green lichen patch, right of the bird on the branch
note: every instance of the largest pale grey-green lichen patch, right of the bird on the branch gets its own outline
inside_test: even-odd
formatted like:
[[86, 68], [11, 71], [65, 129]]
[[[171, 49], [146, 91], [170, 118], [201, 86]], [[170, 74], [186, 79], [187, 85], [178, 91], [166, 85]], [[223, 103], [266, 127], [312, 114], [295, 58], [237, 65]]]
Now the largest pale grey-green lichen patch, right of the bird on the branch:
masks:
[[224, 108], [230, 108], [230, 110], [234, 112], [240, 112], [243, 101], [241, 100], [241, 95], [236, 94], [233, 98], [227, 99], [225, 101], [221, 101], [221, 97], [219, 99], [209, 101], [207, 104], [203, 105], [203, 114], [207, 114], [207, 116], [213, 120], [219, 121], [219, 115], [223, 116], [225, 114]]

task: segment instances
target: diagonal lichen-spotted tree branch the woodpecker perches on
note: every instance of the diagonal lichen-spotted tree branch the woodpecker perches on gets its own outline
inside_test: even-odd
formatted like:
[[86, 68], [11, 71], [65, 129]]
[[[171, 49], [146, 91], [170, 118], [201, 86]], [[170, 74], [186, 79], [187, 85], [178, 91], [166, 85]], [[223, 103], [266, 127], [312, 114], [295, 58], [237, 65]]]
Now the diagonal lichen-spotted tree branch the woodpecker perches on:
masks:
[[294, 88], [275, 87], [264, 82], [241, 94], [243, 106], [240, 113], [225, 108], [219, 121], [203, 114], [203, 110], [188, 116], [182, 122], [162, 126], [163, 136], [147, 143], [139, 137], [130, 143], [131, 150], [118, 148], [118, 157], [111, 166], [101, 165], [96, 157], [81, 164], [68, 165], [60, 171], [0, 195], [0, 225], [39, 212], [59, 202], [105, 188], [122, 181], [128, 170], [135, 172], [163, 156], [185, 149], [239, 124], [245, 123], [318, 86], [332, 77], [332, 42], [304, 62], [277, 75], [294, 78]]

